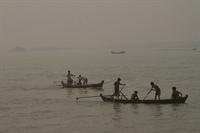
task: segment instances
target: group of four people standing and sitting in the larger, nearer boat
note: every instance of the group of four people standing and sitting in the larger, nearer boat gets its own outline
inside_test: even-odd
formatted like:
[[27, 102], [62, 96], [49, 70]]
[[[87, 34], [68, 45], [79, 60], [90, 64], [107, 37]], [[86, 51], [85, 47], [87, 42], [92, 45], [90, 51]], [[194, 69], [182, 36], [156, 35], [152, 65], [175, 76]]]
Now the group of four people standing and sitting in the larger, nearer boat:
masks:
[[[114, 93], [112, 94], [113, 97], [117, 97], [119, 98], [120, 93], [123, 95], [123, 93], [120, 90], [120, 85], [126, 85], [121, 83], [121, 78], [118, 78], [117, 81], [114, 82]], [[155, 84], [154, 82], [150, 82], [151, 85], [151, 89], [149, 90], [149, 92], [147, 93], [147, 95], [151, 92], [151, 91], [155, 91], [155, 100], [160, 100], [160, 95], [161, 95], [161, 89], [160, 87]], [[146, 95], [146, 96], [147, 96]], [[175, 86], [172, 87], [172, 95], [171, 98], [172, 99], [178, 99], [182, 97], [182, 93], [179, 92]], [[134, 93], [131, 95], [131, 100], [139, 100], [138, 97], [138, 91], [134, 91]]]

